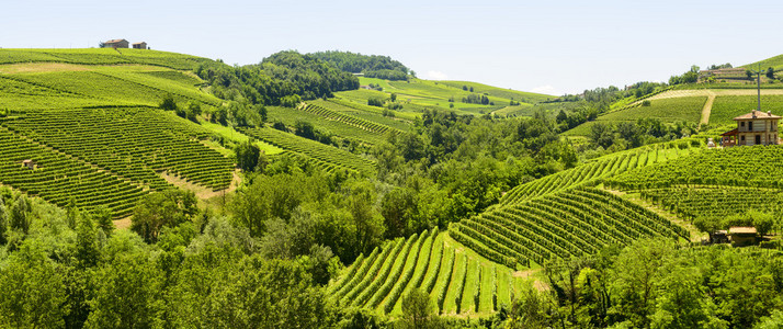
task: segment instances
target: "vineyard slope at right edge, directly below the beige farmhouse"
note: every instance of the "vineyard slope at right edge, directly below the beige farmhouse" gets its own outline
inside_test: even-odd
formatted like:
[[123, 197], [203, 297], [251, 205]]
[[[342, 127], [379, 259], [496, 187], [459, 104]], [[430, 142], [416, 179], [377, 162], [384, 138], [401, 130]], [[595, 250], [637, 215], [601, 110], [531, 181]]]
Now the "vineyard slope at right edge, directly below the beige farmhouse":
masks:
[[624, 191], [676, 185], [781, 189], [782, 168], [783, 146], [744, 146], [708, 149], [679, 161], [640, 168], [606, 179], [605, 184]]

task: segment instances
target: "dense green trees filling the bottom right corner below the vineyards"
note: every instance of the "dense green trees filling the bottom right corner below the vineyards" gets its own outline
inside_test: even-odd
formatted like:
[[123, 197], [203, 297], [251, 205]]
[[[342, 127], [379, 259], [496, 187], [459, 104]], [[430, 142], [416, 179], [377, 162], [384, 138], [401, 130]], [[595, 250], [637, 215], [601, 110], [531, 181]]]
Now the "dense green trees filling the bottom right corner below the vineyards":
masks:
[[[552, 290], [521, 294], [510, 328], [779, 328], [780, 251], [646, 240], [547, 269]], [[756, 326], [756, 327], [754, 327]]]

